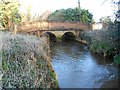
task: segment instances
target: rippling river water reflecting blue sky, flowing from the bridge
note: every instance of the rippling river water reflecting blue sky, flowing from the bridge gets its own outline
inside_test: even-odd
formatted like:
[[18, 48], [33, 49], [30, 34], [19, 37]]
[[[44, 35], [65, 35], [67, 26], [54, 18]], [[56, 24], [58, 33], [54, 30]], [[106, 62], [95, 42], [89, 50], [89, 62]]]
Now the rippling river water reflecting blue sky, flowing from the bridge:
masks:
[[[60, 88], [117, 87], [118, 67], [110, 60], [91, 54], [84, 44], [66, 41], [51, 46], [52, 66]], [[115, 84], [115, 85], [114, 85]]]

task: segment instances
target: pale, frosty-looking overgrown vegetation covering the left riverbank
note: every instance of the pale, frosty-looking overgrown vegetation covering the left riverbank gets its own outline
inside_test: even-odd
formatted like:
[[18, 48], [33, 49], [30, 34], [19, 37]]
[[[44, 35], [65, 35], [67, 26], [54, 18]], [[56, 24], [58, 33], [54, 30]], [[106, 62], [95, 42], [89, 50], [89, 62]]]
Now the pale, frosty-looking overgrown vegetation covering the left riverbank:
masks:
[[44, 40], [8, 32], [0, 36], [3, 88], [58, 88]]

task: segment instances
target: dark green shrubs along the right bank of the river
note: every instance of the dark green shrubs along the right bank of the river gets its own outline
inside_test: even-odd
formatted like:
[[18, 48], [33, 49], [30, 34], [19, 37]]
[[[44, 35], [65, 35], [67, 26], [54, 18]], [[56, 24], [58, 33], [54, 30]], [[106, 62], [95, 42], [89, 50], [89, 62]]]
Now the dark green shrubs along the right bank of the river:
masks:
[[112, 57], [116, 64], [120, 64], [120, 22], [114, 22], [108, 30], [94, 30], [82, 32], [80, 38], [88, 43], [91, 52]]

